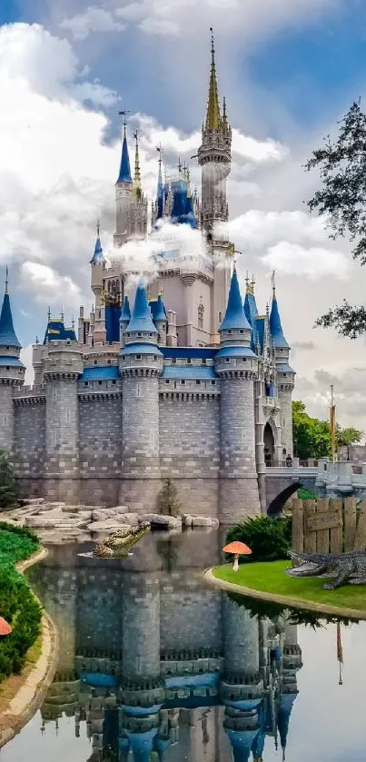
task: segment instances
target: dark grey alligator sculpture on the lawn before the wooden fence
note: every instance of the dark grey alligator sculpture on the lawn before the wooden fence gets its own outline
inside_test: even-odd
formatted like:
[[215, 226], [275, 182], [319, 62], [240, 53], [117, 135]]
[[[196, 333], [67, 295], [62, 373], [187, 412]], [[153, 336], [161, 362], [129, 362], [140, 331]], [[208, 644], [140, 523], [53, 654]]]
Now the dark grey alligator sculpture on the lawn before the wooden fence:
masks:
[[352, 550], [350, 553], [299, 553], [290, 550], [289, 556], [295, 561], [302, 561], [300, 566], [286, 569], [293, 578], [334, 577], [323, 588], [334, 590], [341, 585], [366, 585], [366, 553]]

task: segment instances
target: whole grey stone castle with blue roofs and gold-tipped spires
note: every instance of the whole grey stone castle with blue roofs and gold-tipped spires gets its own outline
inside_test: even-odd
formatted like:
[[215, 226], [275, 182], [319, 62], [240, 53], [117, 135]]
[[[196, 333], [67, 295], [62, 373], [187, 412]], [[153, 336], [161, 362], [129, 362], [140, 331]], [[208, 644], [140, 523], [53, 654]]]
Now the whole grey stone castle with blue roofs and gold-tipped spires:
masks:
[[[25, 368], [7, 278], [0, 318], [0, 447], [11, 451], [22, 493], [153, 510], [171, 478], [193, 514], [223, 523], [266, 508], [266, 468], [292, 456], [294, 371], [273, 283], [272, 307], [244, 299], [225, 231], [232, 129], [219, 102], [212, 39], [208, 104], [198, 148], [202, 198], [187, 167], [159, 169], [151, 224], [135, 134], [134, 178], [124, 133], [115, 183], [114, 261], [99, 225], [90, 262], [94, 307], [77, 329], [49, 312], [34, 346], [35, 383]], [[137, 281], [124, 244], [174, 225], [155, 257], [156, 274]], [[187, 226], [203, 246], [183, 245]], [[182, 245], [179, 236], [182, 233]], [[140, 509], [137, 509], [140, 510]]]

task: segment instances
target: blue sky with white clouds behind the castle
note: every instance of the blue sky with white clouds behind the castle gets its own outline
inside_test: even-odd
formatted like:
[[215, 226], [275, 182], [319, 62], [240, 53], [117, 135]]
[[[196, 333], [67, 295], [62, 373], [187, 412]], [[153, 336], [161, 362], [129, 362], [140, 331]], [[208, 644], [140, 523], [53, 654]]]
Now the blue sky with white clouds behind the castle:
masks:
[[[49, 303], [53, 312], [63, 304], [68, 320], [80, 303], [90, 310], [95, 220], [104, 248], [114, 233], [123, 99], [134, 114], [130, 143], [139, 126], [151, 198], [156, 144], [163, 144], [168, 169], [179, 154], [189, 161], [196, 153], [211, 24], [220, 95], [234, 129], [228, 197], [242, 276], [255, 272], [262, 309], [276, 270], [299, 389], [316, 411], [324, 404], [316, 372], [337, 378], [347, 396], [349, 369], [360, 367], [364, 349], [363, 342], [312, 330], [328, 303], [363, 301], [366, 271], [354, 269], [346, 241], [331, 242], [323, 223], [307, 214], [303, 202], [316, 178], [302, 169], [312, 147], [364, 94], [361, 0], [3, 0], [0, 268], [9, 262], [17, 331], [29, 361]], [[366, 425], [366, 394], [362, 404]], [[351, 402], [345, 415], [356, 425]]]

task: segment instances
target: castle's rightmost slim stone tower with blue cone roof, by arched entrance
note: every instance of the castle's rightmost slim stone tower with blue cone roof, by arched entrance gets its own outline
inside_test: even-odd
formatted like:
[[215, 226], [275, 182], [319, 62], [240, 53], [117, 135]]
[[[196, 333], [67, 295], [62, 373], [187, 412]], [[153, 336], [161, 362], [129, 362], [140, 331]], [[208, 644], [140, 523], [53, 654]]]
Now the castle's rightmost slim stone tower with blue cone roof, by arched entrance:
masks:
[[293, 456], [292, 439], [292, 391], [295, 384], [295, 371], [289, 364], [290, 346], [284, 338], [276, 289], [273, 282], [270, 329], [274, 348], [274, 360], [277, 374], [278, 398], [281, 403], [282, 456]]

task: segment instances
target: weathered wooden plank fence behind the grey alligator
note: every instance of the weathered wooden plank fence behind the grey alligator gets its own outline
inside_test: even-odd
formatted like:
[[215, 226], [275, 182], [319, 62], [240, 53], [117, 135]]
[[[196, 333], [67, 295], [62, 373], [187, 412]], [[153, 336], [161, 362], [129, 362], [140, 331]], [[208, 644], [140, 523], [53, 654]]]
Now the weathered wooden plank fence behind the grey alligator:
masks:
[[341, 553], [366, 549], [366, 500], [356, 498], [292, 500], [292, 549]]

